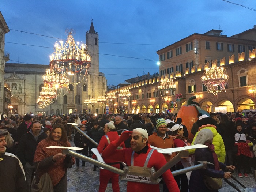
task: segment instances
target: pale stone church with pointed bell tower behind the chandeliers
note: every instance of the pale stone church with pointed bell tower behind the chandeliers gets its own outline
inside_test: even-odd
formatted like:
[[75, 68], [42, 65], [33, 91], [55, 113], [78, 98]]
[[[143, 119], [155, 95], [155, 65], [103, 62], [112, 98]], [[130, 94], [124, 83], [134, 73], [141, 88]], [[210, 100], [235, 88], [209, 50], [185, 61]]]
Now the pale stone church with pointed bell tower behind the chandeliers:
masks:
[[[98, 96], [104, 96], [107, 90], [107, 80], [104, 74], [99, 72], [98, 32], [95, 32], [93, 22], [91, 22], [85, 38], [87, 50], [92, 58], [88, 78], [84, 78], [75, 89], [62, 90], [53, 103], [46, 108], [38, 108], [36, 102], [43, 86], [42, 75], [45, 74], [46, 69], [49, 69], [49, 65], [5, 63], [4, 83], [10, 87], [11, 91], [13, 107], [11, 114], [31, 112], [59, 115], [82, 112], [102, 114], [105, 112], [105, 105], [102, 103], [84, 103], [85, 99], [97, 99]], [[76, 40], [82, 41], [82, 39]], [[75, 81], [75, 78], [71, 78], [69, 86], [73, 86]]]

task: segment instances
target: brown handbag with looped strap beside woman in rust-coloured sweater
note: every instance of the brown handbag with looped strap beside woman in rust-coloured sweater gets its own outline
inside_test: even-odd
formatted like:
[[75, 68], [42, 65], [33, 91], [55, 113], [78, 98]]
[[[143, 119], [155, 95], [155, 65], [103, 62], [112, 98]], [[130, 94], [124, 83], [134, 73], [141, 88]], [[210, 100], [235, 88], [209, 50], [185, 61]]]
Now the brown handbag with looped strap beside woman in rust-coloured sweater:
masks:
[[35, 170], [35, 176], [31, 183], [30, 192], [53, 192], [52, 180], [47, 172], [45, 172], [39, 179], [38, 177], [39, 164], [40, 162], [38, 163], [37, 169]]

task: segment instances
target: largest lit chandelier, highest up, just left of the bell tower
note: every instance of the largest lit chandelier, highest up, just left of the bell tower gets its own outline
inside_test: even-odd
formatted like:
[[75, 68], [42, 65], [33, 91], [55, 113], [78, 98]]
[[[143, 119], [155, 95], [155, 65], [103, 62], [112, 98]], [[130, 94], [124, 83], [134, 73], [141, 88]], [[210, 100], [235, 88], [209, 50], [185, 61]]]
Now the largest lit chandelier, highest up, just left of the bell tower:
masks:
[[50, 56], [50, 68], [56, 74], [62, 74], [64, 78], [67, 77], [67, 74], [79, 74], [76, 79], [76, 86], [87, 76], [91, 64], [91, 56], [87, 52], [86, 44], [75, 42], [73, 37], [75, 35], [74, 30], [71, 29], [69, 31], [66, 29], [65, 34], [68, 34], [68, 37], [64, 45], [63, 41], [55, 43], [54, 52]]

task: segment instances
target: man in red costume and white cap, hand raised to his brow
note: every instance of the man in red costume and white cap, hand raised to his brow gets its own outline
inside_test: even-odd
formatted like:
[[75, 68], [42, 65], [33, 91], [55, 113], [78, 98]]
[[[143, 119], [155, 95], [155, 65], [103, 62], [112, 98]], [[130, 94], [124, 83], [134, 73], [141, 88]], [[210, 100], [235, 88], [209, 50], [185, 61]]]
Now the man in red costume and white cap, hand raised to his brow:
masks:
[[[125, 148], [121, 150], [116, 150], [118, 146], [128, 138], [131, 138], [131, 148]], [[133, 129], [133, 131], [125, 131], [121, 134], [120, 138], [111, 142], [105, 150], [102, 152], [103, 158], [111, 157], [116, 161], [125, 162], [128, 166], [139, 166], [143, 167], [147, 163], [147, 167], [154, 167], [155, 170], [160, 169], [166, 164], [166, 160], [161, 153], [153, 150], [149, 160], [146, 162], [148, 154], [152, 150], [150, 145], [147, 144], [148, 134], [147, 131], [141, 128]], [[167, 170], [163, 175], [163, 180], [165, 181], [169, 191], [179, 192], [178, 185], [173, 178], [170, 170]], [[147, 184], [139, 182], [127, 183], [127, 192], [159, 192], [159, 184]]]

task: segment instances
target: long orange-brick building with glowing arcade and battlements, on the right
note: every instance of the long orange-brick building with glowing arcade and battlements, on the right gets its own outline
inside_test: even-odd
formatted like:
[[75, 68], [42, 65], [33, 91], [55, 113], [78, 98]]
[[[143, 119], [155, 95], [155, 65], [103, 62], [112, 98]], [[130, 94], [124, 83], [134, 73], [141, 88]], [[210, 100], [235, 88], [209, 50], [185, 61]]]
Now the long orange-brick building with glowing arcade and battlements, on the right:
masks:
[[[231, 37], [221, 35], [221, 32], [194, 33], [158, 50], [159, 76], [150, 76], [110, 90], [108, 93], [117, 96], [115, 102], [110, 104], [110, 111], [117, 113], [120, 106], [127, 106], [129, 113], [177, 111], [192, 96], [196, 96], [196, 101], [208, 112], [255, 109], [256, 26]], [[201, 81], [204, 68], [206, 65], [212, 67], [213, 63], [225, 67], [229, 76], [226, 92], [217, 96], [208, 93]], [[163, 99], [158, 86], [166, 76], [174, 80], [176, 90]], [[130, 91], [129, 102], [120, 102], [118, 94], [122, 90]], [[176, 101], [176, 94], [182, 94], [181, 101]]]

